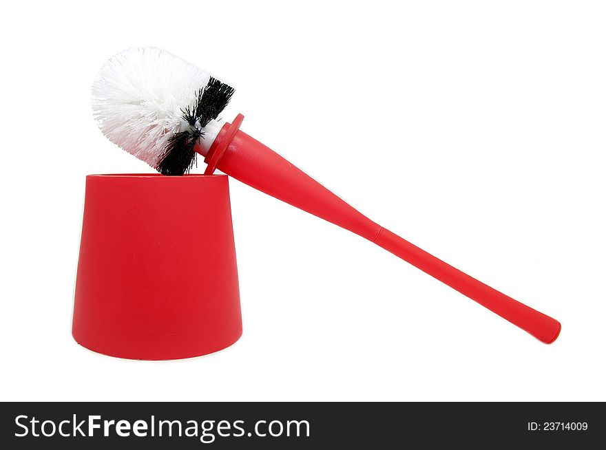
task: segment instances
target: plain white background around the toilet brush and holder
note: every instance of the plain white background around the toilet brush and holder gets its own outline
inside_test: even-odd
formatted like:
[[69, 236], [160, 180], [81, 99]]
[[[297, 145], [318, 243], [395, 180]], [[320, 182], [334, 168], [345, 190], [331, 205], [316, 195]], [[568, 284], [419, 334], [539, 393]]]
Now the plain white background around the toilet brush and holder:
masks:
[[[1, 400], [606, 400], [603, 2], [12, 1], [0, 22]], [[77, 345], [85, 175], [152, 171], [90, 111], [136, 45], [235, 86], [224, 118], [560, 339], [232, 180], [240, 341]]]

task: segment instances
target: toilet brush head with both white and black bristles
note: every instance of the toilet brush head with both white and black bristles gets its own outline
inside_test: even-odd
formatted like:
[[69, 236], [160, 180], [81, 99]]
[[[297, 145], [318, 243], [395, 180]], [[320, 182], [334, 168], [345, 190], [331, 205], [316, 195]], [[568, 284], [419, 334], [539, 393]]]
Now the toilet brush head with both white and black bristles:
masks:
[[114, 144], [164, 175], [183, 175], [196, 161], [205, 127], [232, 94], [232, 87], [164, 50], [136, 47], [101, 68], [92, 109]]

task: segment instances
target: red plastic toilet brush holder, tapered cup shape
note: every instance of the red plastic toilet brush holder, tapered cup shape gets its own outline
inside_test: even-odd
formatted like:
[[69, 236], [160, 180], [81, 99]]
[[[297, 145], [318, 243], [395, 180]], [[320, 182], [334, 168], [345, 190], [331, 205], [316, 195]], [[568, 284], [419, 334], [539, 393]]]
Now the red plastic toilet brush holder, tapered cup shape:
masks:
[[238, 341], [227, 176], [87, 176], [72, 334], [95, 352], [148, 360]]

